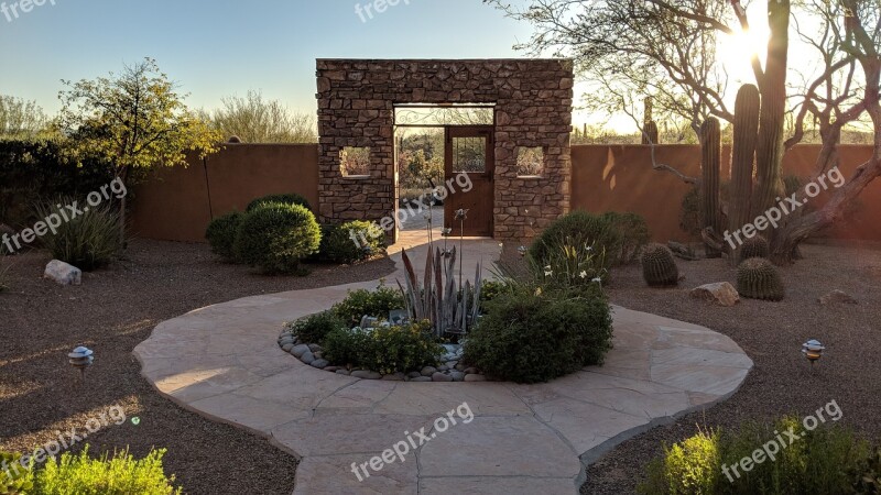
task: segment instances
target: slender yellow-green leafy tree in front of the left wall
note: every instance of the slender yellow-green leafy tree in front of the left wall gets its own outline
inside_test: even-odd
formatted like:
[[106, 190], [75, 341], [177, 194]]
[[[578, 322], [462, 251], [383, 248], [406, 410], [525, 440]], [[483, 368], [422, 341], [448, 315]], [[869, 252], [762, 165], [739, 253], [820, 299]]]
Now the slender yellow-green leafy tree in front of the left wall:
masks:
[[[78, 156], [99, 156], [115, 165], [127, 187], [157, 166], [186, 166], [187, 153], [215, 153], [220, 135], [210, 130], [176, 92], [152, 58], [121, 74], [78, 82], [63, 81], [58, 123]], [[126, 197], [120, 199], [120, 239], [126, 234]]]

